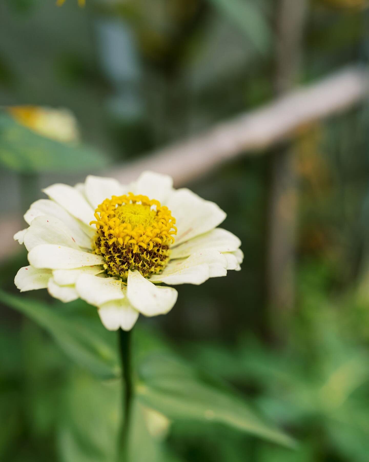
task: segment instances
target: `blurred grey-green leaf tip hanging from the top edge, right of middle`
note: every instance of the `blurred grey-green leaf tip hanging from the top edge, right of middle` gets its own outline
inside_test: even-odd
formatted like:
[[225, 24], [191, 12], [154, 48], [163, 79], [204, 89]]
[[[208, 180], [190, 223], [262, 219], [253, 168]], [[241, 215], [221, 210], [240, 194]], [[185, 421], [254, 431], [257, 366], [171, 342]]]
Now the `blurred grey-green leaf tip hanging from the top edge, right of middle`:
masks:
[[272, 43], [270, 27], [257, 2], [250, 0], [208, 0], [222, 14], [226, 15], [251, 40], [263, 55], [268, 53]]

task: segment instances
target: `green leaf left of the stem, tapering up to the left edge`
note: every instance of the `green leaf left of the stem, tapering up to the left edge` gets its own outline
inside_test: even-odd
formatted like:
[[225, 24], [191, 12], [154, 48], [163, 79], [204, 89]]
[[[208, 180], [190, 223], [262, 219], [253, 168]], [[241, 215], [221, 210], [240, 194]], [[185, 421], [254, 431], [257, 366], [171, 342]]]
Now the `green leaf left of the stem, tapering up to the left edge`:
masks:
[[48, 305], [1, 290], [0, 300], [48, 330], [79, 365], [100, 377], [118, 376], [116, 336], [102, 326], [97, 311], [91, 306], [82, 302], [71, 303], [68, 307]]

